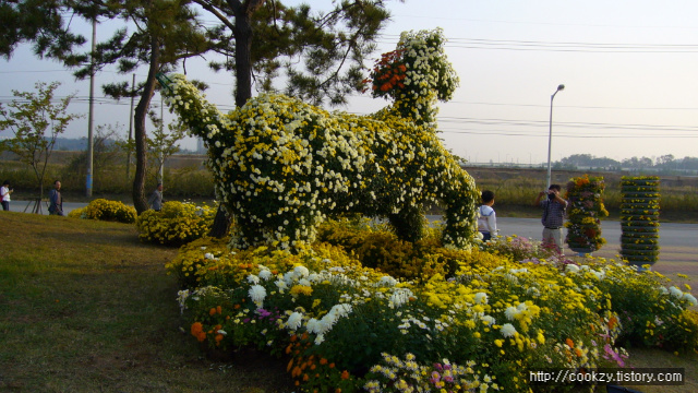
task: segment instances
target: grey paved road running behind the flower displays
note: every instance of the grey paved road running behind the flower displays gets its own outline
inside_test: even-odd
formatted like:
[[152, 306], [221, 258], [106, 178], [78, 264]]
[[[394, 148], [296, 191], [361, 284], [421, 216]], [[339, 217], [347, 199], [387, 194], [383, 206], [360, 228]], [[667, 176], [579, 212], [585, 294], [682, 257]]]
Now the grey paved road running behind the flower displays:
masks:
[[[29, 205], [27, 207], [27, 205]], [[86, 203], [63, 203], [65, 214], [73, 209], [84, 207]], [[10, 210], [13, 212], [32, 211], [32, 204], [27, 201], [12, 201]], [[48, 214], [48, 206], [41, 206], [43, 214]], [[430, 221], [440, 219], [441, 216], [428, 216]], [[508, 218], [497, 217], [500, 235], [517, 235], [539, 240], [542, 237], [542, 226], [539, 218]], [[603, 237], [607, 243], [597, 252], [594, 257], [617, 259], [621, 250], [621, 223], [617, 221], [604, 221], [601, 224]], [[698, 274], [698, 224], [662, 224], [660, 227], [660, 259], [653, 269], [661, 273]], [[566, 253], [573, 253], [567, 250]]]

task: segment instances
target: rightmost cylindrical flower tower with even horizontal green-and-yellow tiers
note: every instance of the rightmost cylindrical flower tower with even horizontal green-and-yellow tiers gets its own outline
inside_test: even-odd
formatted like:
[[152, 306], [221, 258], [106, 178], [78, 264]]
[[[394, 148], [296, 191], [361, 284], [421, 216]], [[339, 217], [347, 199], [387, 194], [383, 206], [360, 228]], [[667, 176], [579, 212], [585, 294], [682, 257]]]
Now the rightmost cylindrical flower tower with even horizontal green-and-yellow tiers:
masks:
[[621, 255], [628, 263], [652, 265], [659, 260], [660, 179], [621, 179]]

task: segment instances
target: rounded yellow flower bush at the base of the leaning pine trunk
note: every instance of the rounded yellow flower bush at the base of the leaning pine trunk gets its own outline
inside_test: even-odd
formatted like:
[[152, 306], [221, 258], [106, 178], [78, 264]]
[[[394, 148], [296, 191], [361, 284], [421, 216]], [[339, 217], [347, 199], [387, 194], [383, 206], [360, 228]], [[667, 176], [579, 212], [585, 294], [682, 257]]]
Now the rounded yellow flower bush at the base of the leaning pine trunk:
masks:
[[142, 241], [181, 246], [203, 237], [215, 214], [216, 210], [210, 206], [172, 201], [165, 202], [159, 212], [143, 212], [135, 225]]

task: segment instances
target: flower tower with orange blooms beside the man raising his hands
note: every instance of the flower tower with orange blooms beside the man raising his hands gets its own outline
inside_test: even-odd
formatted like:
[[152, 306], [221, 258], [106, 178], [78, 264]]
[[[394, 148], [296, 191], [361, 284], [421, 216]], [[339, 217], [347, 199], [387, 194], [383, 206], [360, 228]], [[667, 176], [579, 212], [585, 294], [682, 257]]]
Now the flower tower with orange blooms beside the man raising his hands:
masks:
[[605, 245], [601, 237], [601, 218], [607, 217], [609, 212], [603, 205], [603, 177], [589, 175], [571, 179], [567, 183], [565, 199], [567, 207], [567, 238], [570, 249], [578, 252], [593, 252]]

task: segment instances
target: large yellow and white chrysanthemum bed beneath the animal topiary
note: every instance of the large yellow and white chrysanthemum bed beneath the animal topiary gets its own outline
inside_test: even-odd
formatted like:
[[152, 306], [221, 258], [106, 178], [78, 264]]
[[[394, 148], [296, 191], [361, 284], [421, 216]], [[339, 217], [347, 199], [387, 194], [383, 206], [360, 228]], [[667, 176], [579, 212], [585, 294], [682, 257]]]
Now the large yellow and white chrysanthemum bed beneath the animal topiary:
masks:
[[[365, 230], [364, 239], [384, 234]], [[515, 239], [491, 252], [461, 251], [455, 271], [421, 283], [365, 267], [328, 243], [230, 252], [202, 240], [169, 269], [188, 266], [196, 277], [179, 294], [196, 341], [285, 356], [303, 392], [518, 392], [531, 388], [528, 370], [622, 367], [618, 343], [698, 348], [697, 319], [686, 311], [696, 299], [664, 288], [659, 274], [546, 259], [539, 245]], [[423, 254], [438, 254], [437, 246]], [[512, 262], [498, 250], [528, 258]]]

